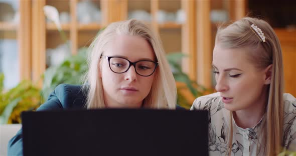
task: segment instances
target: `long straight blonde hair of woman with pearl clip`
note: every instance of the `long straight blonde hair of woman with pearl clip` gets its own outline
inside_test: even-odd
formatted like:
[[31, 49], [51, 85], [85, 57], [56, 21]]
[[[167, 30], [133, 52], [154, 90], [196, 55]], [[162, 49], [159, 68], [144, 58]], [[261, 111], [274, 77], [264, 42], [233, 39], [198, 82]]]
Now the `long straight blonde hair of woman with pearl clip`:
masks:
[[[266, 41], [262, 42], [251, 30], [252, 24], [257, 25], [264, 33]], [[266, 103], [266, 120], [263, 122], [259, 142], [265, 144], [265, 155], [275, 155], [283, 145], [283, 64], [279, 40], [272, 27], [264, 20], [244, 17], [229, 25], [221, 25], [216, 34], [216, 43], [224, 48], [248, 48], [249, 60], [258, 68], [266, 68], [272, 64], [272, 76], [269, 84], [268, 102]], [[232, 114], [232, 112], [231, 112]], [[232, 115], [231, 115], [232, 116]], [[232, 120], [230, 121], [232, 122]], [[232, 135], [232, 126], [230, 127]], [[231, 153], [232, 137], [229, 140]], [[258, 152], [258, 145], [257, 145]]]

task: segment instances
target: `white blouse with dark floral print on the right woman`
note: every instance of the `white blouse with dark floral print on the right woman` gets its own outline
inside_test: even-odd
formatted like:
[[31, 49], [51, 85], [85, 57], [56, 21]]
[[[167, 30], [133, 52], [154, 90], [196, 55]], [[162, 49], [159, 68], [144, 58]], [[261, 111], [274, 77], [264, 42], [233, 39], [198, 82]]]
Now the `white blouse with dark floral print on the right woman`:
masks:
[[[224, 108], [219, 92], [195, 99], [191, 110], [206, 109], [209, 111], [209, 155], [228, 155], [228, 131], [230, 112]], [[265, 116], [265, 115], [264, 115]], [[262, 121], [252, 128], [241, 128], [236, 125], [233, 117], [233, 137], [231, 155], [264, 155], [264, 145], [260, 144], [257, 134], [262, 130]], [[296, 98], [284, 93], [284, 146], [289, 151], [296, 151]], [[257, 147], [258, 144], [258, 147]], [[257, 152], [258, 149], [258, 152]]]

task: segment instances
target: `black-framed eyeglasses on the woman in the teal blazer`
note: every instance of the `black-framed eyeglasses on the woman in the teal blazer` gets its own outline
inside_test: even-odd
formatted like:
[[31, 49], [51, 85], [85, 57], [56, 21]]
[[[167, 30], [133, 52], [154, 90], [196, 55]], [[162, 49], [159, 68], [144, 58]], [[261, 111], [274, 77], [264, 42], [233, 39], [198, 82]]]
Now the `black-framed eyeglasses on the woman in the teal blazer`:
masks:
[[115, 73], [126, 72], [131, 65], [134, 66], [135, 72], [141, 76], [150, 76], [155, 71], [159, 62], [152, 60], [138, 60], [131, 62], [130, 60], [118, 56], [104, 56], [101, 58], [108, 59], [110, 69]]

